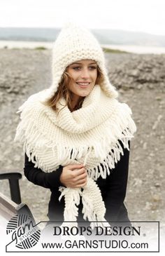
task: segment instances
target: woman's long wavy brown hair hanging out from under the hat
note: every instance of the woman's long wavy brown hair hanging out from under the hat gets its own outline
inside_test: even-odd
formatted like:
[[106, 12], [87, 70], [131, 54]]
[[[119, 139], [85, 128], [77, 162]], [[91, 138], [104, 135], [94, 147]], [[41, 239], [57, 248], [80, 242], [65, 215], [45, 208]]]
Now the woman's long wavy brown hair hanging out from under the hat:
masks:
[[[101, 69], [99, 68], [99, 66], [97, 66], [96, 84], [100, 84], [102, 81], [103, 81], [103, 73], [101, 72]], [[62, 97], [64, 97], [64, 99], [66, 100], [66, 105], [69, 107], [70, 111], [73, 112], [73, 110], [75, 109], [73, 109], [71, 105], [72, 92], [71, 90], [69, 90], [69, 86], [72, 82], [73, 82], [73, 79], [70, 76], [70, 74], [67, 73], [67, 67], [66, 67], [64, 73], [62, 74], [62, 79], [59, 82], [57, 92], [49, 100], [45, 101], [44, 104], [46, 106], [52, 107], [52, 109], [58, 112], [57, 102], [59, 102], [59, 100]], [[79, 105], [77, 106], [77, 109], [80, 109], [80, 107], [82, 107], [83, 100], [84, 100], [84, 97], [82, 97], [82, 99], [80, 100]]]

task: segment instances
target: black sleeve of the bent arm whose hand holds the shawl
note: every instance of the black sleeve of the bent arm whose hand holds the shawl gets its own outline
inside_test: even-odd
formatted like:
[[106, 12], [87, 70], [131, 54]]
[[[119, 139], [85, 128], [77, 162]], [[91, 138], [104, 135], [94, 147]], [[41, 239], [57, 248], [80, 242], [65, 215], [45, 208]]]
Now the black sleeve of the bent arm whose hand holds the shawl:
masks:
[[58, 189], [59, 186], [64, 186], [59, 178], [62, 174], [62, 166], [51, 173], [45, 173], [40, 168], [35, 168], [34, 163], [29, 161], [27, 154], [24, 156], [24, 175], [30, 182], [45, 187], [48, 189]]

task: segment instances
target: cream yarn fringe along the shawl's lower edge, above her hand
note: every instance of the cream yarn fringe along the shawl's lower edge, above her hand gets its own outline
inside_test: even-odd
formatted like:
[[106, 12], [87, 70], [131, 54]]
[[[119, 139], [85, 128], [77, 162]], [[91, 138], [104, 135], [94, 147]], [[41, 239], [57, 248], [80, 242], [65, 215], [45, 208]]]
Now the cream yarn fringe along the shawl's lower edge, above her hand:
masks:
[[[29, 161], [31, 160], [36, 164], [36, 167], [42, 168], [43, 171], [52, 171], [56, 170], [61, 165], [71, 164], [71, 163], [83, 163], [88, 171], [89, 177], [96, 180], [100, 175], [103, 178], [106, 178], [106, 174], [109, 174], [108, 168], [115, 168], [115, 163], [120, 161], [120, 156], [123, 155], [123, 150], [120, 145], [119, 140], [124, 145], [124, 148], [129, 150], [129, 140], [131, 140], [133, 133], [135, 131], [135, 124], [131, 120], [128, 123], [128, 128], [122, 130], [122, 134], [118, 137], [118, 140], [115, 136], [115, 142], [111, 142], [109, 137], [112, 137], [110, 133], [107, 133], [103, 140], [96, 142], [92, 146], [86, 147], [69, 147], [69, 145], [63, 146], [62, 144], [54, 144], [52, 141], [48, 141], [45, 137], [42, 137], [41, 133], [38, 133], [38, 128], [36, 128], [35, 123], [31, 120], [31, 115], [26, 116], [26, 119], [23, 119], [20, 124], [17, 126], [17, 133], [15, 135], [15, 141], [19, 140], [23, 143], [23, 150], [27, 153]], [[121, 133], [121, 131], [120, 131]], [[107, 142], [105, 144], [105, 141]], [[43, 150], [43, 154], [41, 151]], [[57, 158], [56, 165], [44, 166], [45, 150], [49, 151], [50, 156], [55, 159]], [[90, 165], [90, 154], [92, 153], [95, 156], [95, 163]], [[72, 152], [72, 154], [71, 154]], [[57, 154], [57, 155], [56, 155]], [[41, 156], [40, 156], [41, 155]], [[34, 160], [36, 157], [36, 161]], [[104, 156], [104, 157], [103, 157]], [[75, 161], [75, 159], [78, 159]], [[80, 162], [82, 159], [82, 162]], [[97, 161], [96, 161], [97, 159]], [[42, 161], [43, 160], [43, 161]], [[89, 160], [89, 161], [88, 161]], [[92, 163], [92, 162], [91, 162]], [[103, 170], [101, 168], [103, 166]]]

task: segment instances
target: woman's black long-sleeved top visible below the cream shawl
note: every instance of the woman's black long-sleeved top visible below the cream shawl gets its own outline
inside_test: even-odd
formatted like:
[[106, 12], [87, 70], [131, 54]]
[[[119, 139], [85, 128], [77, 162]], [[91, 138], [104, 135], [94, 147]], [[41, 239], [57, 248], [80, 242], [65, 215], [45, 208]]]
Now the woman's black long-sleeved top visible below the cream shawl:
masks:
[[[121, 142], [120, 144], [124, 150], [124, 155], [121, 155], [120, 161], [115, 164], [115, 168], [110, 170], [110, 175], [106, 179], [99, 177], [96, 181], [106, 206], [106, 220], [111, 225], [113, 223], [117, 224], [118, 221], [129, 222], [127, 209], [124, 206], [129, 170], [129, 151], [124, 149]], [[34, 163], [29, 162], [27, 154], [25, 154], [24, 175], [27, 177], [27, 180], [41, 187], [48, 188], [52, 192], [48, 208], [48, 217], [51, 221], [62, 222], [64, 220], [64, 196], [59, 202], [59, 196], [61, 195], [59, 186], [64, 186], [59, 180], [62, 168], [62, 166], [59, 166], [52, 173], [44, 173], [40, 168], [34, 168]], [[81, 201], [78, 220], [83, 220]], [[129, 222], [128, 224], [130, 225], [131, 223]]]

